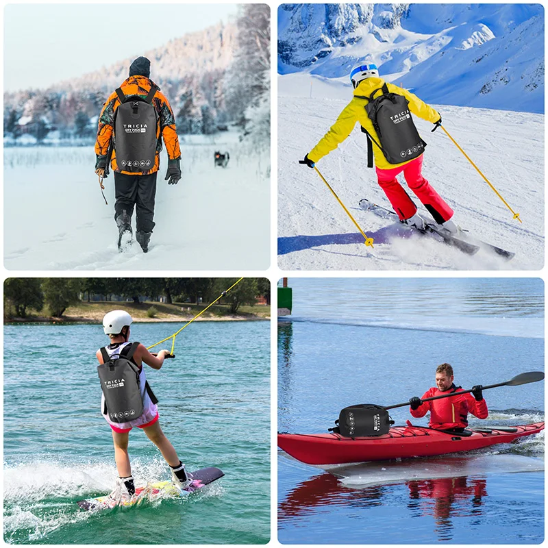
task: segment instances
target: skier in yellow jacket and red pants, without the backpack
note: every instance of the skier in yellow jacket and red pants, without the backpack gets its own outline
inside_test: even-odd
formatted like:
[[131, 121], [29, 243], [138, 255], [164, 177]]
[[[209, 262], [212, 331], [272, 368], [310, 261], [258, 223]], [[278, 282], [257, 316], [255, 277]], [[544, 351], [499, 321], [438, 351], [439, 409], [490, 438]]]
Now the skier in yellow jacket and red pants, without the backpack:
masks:
[[[408, 110], [420, 118], [434, 123], [435, 131], [441, 125], [441, 116], [432, 107], [421, 101], [419, 97], [399, 88], [394, 84], [388, 84], [379, 77], [379, 71], [375, 64], [366, 64], [356, 67], [350, 73], [350, 79], [354, 87], [353, 99], [338, 116], [337, 121], [331, 129], [323, 136], [318, 144], [305, 156], [304, 163], [313, 168], [323, 156], [327, 155], [345, 140], [356, 122], [360, 122], [362, 128], [371, 135], [373, 144], [373, 155], [375, 158], [375, 171], [379, 186], [384, 190], [386, 197], [392, 204], [394, 211], [397, 212], [399, 220], [408, 225], [412, 225], [419, 230], [425, 229], [425, 221], [418, 214], [415, 204], [409, 197], [406, 190], [399, 184], [396, 176], [403, 172], [407, 184], [415, 195], [421, 200], [425, 208], [434, 217], [434, 221], [445, 229], [449, 234], [457, 234], [458, 227], [451, 220], [453, 210], [432, 188], [429, 182], [423, 177], [421, 167], [423, 164], [423, 153], [420, 153], [412, 160], [393, 164], [388, 162], [382, 149], [379, 147], [381, 139], [377, 134], [373, 122], [369, 119], [365, 106], [370, 102], [368, 99], [375, 90], [382, 90], [383, 86], [388, 88], [388, 92], [397, 95], [403, 95], [408, 101]], [[374, 96], [375, 99], [377, 95]], [[407, 116], [409, 118], [409, 116]], [[395, 125], [395, 131], [398, 129]], [[421, 151], [423, 151], [423, 145]]]

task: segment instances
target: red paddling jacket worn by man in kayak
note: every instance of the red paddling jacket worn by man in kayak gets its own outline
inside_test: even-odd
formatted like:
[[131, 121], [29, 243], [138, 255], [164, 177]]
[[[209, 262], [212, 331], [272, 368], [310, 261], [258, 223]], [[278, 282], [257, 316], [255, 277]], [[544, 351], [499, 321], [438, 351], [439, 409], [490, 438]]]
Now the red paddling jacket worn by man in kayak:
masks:
[[[451, 386], [449, 390], [442, 392], [437, 387], [430, 388], [423, 394], [421, 399], [441, 396], [451, 392], [462, 392], [459, 386]], [[487, 419], [489, 411], [485, 399], [476, 401], [471, 393], [450, 398], [434, 399], [434, 401], [425, 401], [416, 410], [410, 410], [412, 416], [421, 417], [430, 412], [430, 428], [436, 430], [450, 430], [453, 428], [466, 428], [468, 426], [469, 412], [478, 419]]]

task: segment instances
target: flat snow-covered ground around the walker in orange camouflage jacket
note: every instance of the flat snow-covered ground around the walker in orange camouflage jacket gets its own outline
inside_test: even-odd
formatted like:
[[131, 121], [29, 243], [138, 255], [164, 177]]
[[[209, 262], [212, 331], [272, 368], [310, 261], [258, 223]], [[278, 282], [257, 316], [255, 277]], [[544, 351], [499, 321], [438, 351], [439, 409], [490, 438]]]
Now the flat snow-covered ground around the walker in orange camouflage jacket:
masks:
[[[196, 140], [194, 140], [196, 141]], [[182, 139], [182, 179], [164, 181], [162, 153], [149, 253], [116, 247], [114, 177], [105, 206], [91, 147], [4, 149], [8, 270], [256, 270], [269, 267], [269, 154], [234, 134]], [[214, 151], [229, 151], [226, 169]], [[135, 215], [133, 218], [135, 226]]]

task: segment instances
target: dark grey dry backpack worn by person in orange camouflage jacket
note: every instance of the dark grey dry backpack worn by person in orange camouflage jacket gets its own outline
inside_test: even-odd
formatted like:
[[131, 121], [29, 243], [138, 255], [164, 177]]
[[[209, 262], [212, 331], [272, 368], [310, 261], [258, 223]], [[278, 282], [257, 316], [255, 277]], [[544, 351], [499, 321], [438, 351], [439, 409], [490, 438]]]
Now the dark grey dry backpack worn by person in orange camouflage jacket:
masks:
[[158, 112], [152, 98], [159, 89], [153, 84], [145, 99], [140, 95], [126, 97], [121, 88], [116, 90], [121, 105], [114, 113], [114, 151], [123, 171], [142, 173], [154, 166]]

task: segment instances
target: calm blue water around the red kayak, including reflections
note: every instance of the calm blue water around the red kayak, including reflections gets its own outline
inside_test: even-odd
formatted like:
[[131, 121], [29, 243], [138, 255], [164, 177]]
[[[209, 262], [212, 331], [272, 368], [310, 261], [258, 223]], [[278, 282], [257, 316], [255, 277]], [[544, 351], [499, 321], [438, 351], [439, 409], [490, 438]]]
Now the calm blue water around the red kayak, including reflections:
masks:
[[[420, 397], [442, 362], [463, 388], [544, 370], [540, 279], [290, 278], [289, 286], [293, 315], [278, 323], [280, 432], [327, 432], [345, 406]], [[544, 382], [484, 395], [489, 417], [470, 416], [471, 425], [544, 420]], [[427, 425], [408, 407], [390, 415]], [[282, 543], [541, 543], [544, 432], [343, 477], [279, 451], [278, 497]]]

